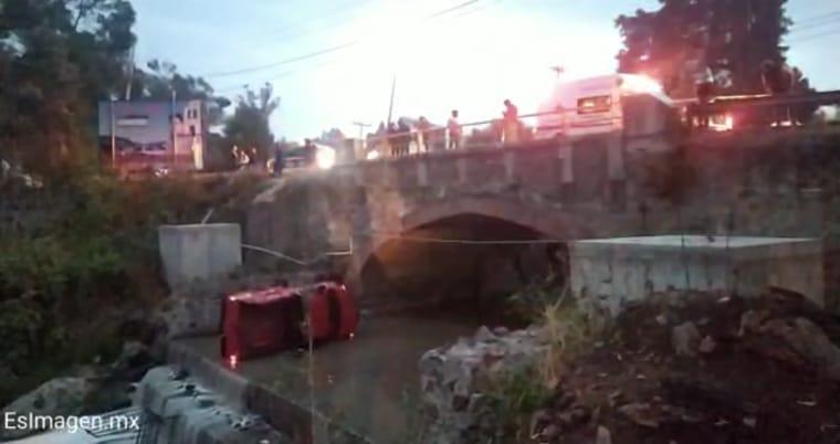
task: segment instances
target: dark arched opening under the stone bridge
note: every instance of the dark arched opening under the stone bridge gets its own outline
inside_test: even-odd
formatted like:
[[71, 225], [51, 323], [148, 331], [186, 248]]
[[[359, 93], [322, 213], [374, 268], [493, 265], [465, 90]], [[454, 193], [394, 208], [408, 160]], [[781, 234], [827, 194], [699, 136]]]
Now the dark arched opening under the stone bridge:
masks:
[[454, 213], [374, 236], [360, 279], [364, 298], [384, 309], [516, 327], [526, 319], [511, 295], [568, 276], [565, 242], [494, 215]]

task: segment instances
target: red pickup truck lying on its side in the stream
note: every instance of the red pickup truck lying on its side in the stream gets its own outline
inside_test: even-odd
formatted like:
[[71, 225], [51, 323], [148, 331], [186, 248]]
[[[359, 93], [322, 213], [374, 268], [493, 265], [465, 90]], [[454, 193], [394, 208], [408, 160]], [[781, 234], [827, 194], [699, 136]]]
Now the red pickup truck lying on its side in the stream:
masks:
[[353, 337], [356, 302], [347, 287], [319, 283], [311, 287], [272, 287], [237, 293], [222, 307], [222, 358], [242, 359]]

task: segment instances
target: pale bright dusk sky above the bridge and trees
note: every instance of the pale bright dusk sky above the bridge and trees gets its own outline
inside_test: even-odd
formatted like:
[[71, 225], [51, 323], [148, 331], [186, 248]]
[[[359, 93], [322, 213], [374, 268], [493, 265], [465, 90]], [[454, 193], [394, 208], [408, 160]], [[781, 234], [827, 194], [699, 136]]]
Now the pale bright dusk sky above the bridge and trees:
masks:
[[[138, 62], [174, 62], [234, 98], [242, 85], [274, 85], [277, 137], [302, 139], [354, 121], [395, 116], [443, 123], [494, 118], [511, 98], [536, 110], [563, 65], [567, 77], [615, 72], [615, 18], [655, 0], [135, 0]], [[437, 12], [469, 3], [448, 14]], [[819, 89], [840, 89], [837, 0], [790, 0], [788, 54]], [[319, 56], [259, 68], [322, 50]], [[245, 71], [240, 74], [230, 72]]]

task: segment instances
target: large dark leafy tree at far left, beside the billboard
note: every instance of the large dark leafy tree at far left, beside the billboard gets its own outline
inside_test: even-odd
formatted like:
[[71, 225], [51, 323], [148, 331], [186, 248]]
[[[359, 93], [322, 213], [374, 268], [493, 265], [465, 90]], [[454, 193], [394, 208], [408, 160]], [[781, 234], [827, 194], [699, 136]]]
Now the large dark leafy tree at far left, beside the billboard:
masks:
[[44, 170], [95, 152], [95, 105], [124, 80], [134, 20], [125, 0], [0, 3], [3, 156]]

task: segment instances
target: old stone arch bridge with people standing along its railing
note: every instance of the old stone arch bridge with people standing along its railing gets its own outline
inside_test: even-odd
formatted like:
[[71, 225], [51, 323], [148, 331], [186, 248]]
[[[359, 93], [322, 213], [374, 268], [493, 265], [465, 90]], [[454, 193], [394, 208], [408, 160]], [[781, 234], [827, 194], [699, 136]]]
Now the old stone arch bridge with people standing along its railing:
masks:
[[301, 258], [333, 252], [364, 293], [363, 268], [385, 243], [461, 215], [558, 241], [825, 232], [823, 194], [809, 180], [836, 139], [760, 133], [679, 145], [664, 134], [605, 135], [290, 171], [253, 202], [245, 240]]

